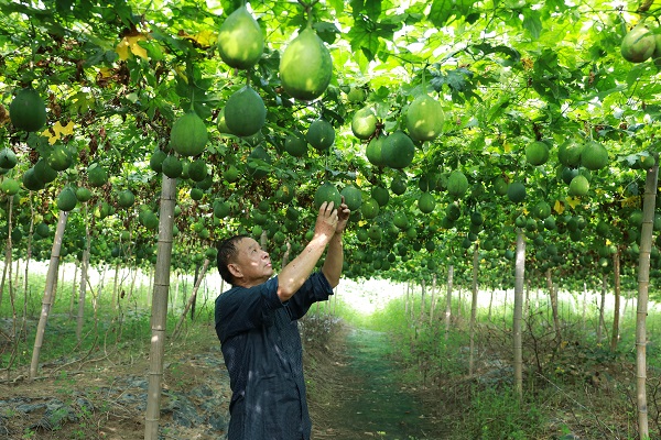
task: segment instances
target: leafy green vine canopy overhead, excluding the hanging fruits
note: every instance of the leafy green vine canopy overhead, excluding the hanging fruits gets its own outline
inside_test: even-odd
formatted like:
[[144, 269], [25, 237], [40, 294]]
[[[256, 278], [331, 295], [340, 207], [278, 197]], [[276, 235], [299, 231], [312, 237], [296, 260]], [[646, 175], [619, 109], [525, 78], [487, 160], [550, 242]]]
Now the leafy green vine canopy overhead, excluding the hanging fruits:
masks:
[[[261, 30], [263, 52], [254, 64], [232, 67], [220, 56], [219, 33], [240, 8]], [[355, 215], [348, 242], [356, 249], [349, 258], [356, 276], [433, 270], [432, 261], [464, 252], [466, 240], [505, 255], [513, 228], [528, 224], [514, 220], [533, 218], [542, 201], [559, 228], [543, 228], [545, 219], [538, 218], [529, 239], [544, 252], [549, 243], [566, 243], [579, 254], [604, 244], [596, 233], [604, 218], [626, 241], [625, 220], [640, 205], [643, 175], [637, 164], [658, 152], [657, 56], [626, 59], [622, 38], [646, 26], [654, 41], [661, 35], [659, 10], [653, 1], [561, 0], [2, 2], [0, 139], [19, 158], [3, 179], [21, 182], [63, 146], [72, 164], [39, 189], [39, 201], [22, 188], [13, 207], [19, 219], [52, 224], [63, 187], [90, 187], [90, 168], [102, 167], [109, 178], [94, 188], [89, 208], [98, 235], [108, 239], [95, 242], [99, 260], [124, 255], [112, 240], [121, 230], [131, 234], [120, 246], [153, 260], [153, 224], [138, 220], [158, 211], [163, 165], [154, 165], [154, 156], [161, 155], [183, 163], [174, 222], [183, 264], [196, 258], [184, 249], [204, 250], [229, 231], [266, 232], [279, 250], [286, 242], [296, 250], [312, 223], [315, 190], [326, 182], [338, 190], [359, 188], [364, 202], [379, 200], [379, 188], [389, 193], [373, 217], [360, 209]], [[289, 67], [291, 77], [330, 75], [321, 92], [301, 99], [288, 92], [281, 70], [288, 46], [307, 29], [332, 62], [322, 68], [322, 58], [305, 53]], [[10, 103], [26, 87], [47, 110], [37, 132], [17, 129], [9, 118]], [[225, 106], [246, 87], [263, 101], [264, 122], [252, 135], [236, 135], [225, 124]], [[375, 164], [370, 143], [410, 134], [408, 112], [421, 96], [438, 103], [438, 133], [413, 139], [410, 161]], [[351, 123], [366, 107], [375, 128], [358, 138]], [[178, 157], [170, 132], [191, 112], [204, 121], [208, 142], [203, 153]], [[334, 130], [328, 147], [310, 146], [319, 135], [308, 128], [318, 120]], [[307, 142], [293, 154], [301, 139]], [[535, 141], [545, 143], [549, 158], [533, 165], [525, 148]], [[589, 169], [561, 157], [567, 143], [588, 142], [606, 147], [606, 167]], [[208, 169], [201, 180], [187, 175], [197, 160]], [[447, 191], [454, 170], [466, 177], [467, 190]], [[571, 172], [588, 183], [579, 196], [563, 178]], [[500, 180], [523, 183], [525, 198], [514, 202], [499, 194]], [[402, 182], [403, 191], [393, 193]], [[134, 211], [118, 209], [126, 190], [136, 195]], [[75, 210], [83, 212], [82, 204]], [[476, 212], [484, 219], [479, 224], [470, 221]], [[402, 227], [393, 226], [397, 215]], [[567, 238], [563, 226], [575, 217], [587, 219], [594, 233]], [[71, 228], [86, 221], [80, 216]], [[78, 253], [80, 237], [73, 233], [65, 249]]]

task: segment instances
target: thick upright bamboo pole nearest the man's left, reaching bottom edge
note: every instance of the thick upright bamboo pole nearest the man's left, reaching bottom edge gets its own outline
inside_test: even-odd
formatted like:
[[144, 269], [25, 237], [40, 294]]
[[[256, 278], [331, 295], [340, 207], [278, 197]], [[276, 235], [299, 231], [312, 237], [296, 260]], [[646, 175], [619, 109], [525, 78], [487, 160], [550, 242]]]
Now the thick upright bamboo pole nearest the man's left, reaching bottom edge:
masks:
[[154, 288], [152, 293], [151, 346], [149, 355], [149, 388], [144, 417], [144, 440], [159, 440], [163, 353], [167, 323], [167, 293], [172, 261], [172, 226], [176, 202], [176, 179], [163, 175], [159, 219], [159, 244]]

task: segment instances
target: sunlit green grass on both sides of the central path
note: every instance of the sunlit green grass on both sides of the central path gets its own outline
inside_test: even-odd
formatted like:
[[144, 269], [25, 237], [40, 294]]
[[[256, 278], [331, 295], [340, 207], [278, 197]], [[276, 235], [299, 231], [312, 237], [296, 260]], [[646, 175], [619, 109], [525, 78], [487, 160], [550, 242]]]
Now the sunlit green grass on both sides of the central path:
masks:
[[[75, 301], [74, 316], [71, 315], [71, 298], [77, 294], [77, 285], [71, 276], [71, 267], [68, 274], [68, 277], [59, 277], [56, 301], [48, 317], [40, 358], [41, 363], [50, 365], [50, 371], [58, 374], [56, 380], [62, 389], [72, 386], [73, 378], [68, 375], [66, 365], [102, 362], [109, 356], [116, 362], [132, 356], [145, 358], [151, 336], [149, 283], [137, 283], [130, 295], [131, 299], [124, 299], [121, 309], [118, 309], [111, 301], [113, 277], [106, 275], [102, 288], [98, 280], [93, 283], [93, 290], [98, 294], [96, 319], [91, 307], [93, 295], [88, 290], [83, 338], [78, 341]], [[20, 277], [14, 286], [22, 285]], [[13, 310], [8, 293], [4, 292], [0, 305], [0, 316], [4, 317], [0, 321], [2, 338], [11, 334], [14, 324], [17, 329], [21, 328], [23, 310], [26, 323], [23, 332], [17, 332], [20, 338], [11, 340], [11, 343], [4, 339], [0, 345], [0, 369], [7, 369], [12, 362], [7, 374], [10, 378], [30, 364], [44, 280], [43, 274], [35, 271], [30, 275], [29, 294], [24, 296], [22, 292], [17, 293], [15, 321], [11, 318]], [[120, 277], [120, 288], [128, 290], [129, 278]], [[176, 278], [172, 282], [173, 290], [177, 285], [175, 283]], [[213, 280], [208, 284], [217, 286]], [[192, 288], [191, 279], [178, 282], [178, 310], [183, 308], [184, 299], [191, 295]], [[185, 321], [181, 342], [189, 350], [195, 350], [197, 344], [202, 350], [208, 348], [209, 338], [214, 334], [213, 299], [216, 294], [213, 288], [205, 290], [198, 300], [196, 321]], [[483, 295], [489, 296], [487, 294]], [[174, 295], [172, 299], [174, 300]], [[496, 295], [490, 312], [486, 305], [491, 302], [491, 298], [483, 298], [477, 312], [476, 373], [473, 376], [467, 372], [469, 295], [466, 292], [460, 298], [458, 293], [454, 297], [449, 331], [445, 328], [443, 296], [438, 298], [434, 319], [429, 317], [429, 297], [424, 319], [421, 319], [422, 304], [419, 295], [409, 305], [400, 296], [381, 305], [373, 314], [362, 314], [351, 308], [353, 298], [344, 293], [337, 299], [313, 307], [311, 316], [339, 316], [351, 326], [388, 332], [392, 342], [392, 355], [404, 365], [399, 380], [419, 387], [423, 398], [429, 398], [430, 405], [437, 407], [440, 414], [445, 411], [447, 424], [454, 427], [457, 436], [460, 433], [467, 439], [483, 440], [541, 439], [552, 436], [562, 438], [568, 435], [582, 438], [636, 438], [635, 302], [629, 301], [627, 312], [621, 317], [617, 350], [610, 351], [611, 310], [607, 307], [606, 327], [602, 329], [599, 340], [598, 302], [588, 301], [584, 318], [581, 300], [581, 295], [565, 295], [561, 299], [559, 308], [562, 341], [556, 341], [545, 296], [531, 295], [523, 334], [522, 400], [512, 394], [512, 373], [508, 370], [512, 356], [511, 293], [507, 301], [502, 293]], [[177, 321], [178, 311], [169, 312], [169, 334]], [[660, 324], [661, 314], [650, 312], [647, 319], [650, 341], [647, 346], [648, 404], [650, 430], [657, 436], [661, 433], [658, 422], [661, 414], [661, 356], [654, 341]], [[323, 326], [317, 329], [321, 333], [315, 333], [315, 341], [324, 341], [328, 337], [327, 329], [324, 329], [326, 328]], [[13, 361], [12, 353], [15, 353]], [[183, 371], [177, 370], [177, 365], [174, 364], [171, 370], [170, 374], [175, 383], [185, 381]], [[312, 365], [312, 370], [327, 373], [317, 364]], [[311, 392], [329, 392], [324, 388], [323, 375], [315, 377], [313, 374], [308, 381]], [[80, 417], [80, 420], [85, 420], [85, 417]], [[455, 438], [462, 439], [460, 436]]]

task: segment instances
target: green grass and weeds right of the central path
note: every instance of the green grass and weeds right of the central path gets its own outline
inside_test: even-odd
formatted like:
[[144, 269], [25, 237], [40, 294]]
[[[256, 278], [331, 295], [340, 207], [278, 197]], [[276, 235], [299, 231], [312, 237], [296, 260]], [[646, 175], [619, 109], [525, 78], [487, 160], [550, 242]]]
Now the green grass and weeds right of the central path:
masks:
[[[490, 315], [485, 307], [478, 309], [473, 376], [467, 371], [468, 295], [453, 300], [447, 333], [445, 304], [437, 304], [435, 318], [430, 320], [429, 298], [424, 319], [418, 316], [420, 297], [408, 306], [403, 298], [395, 299], [369, 318], [349, 319], [391, 334], [395, 355], [407, 365], [401, 380], [412, 386], [424, 385], [430, 404], [436, 405], [440, 413], [451, 413], [448, 424], [456, 429], [453, 438], [636, 438], [635, 301], [629, 301], [627, 312], [620, 317], [617, 349], [611, 351], [613, 314], [608, 307], [606, 327], [597, 339], [597, 304], [587, 304], [584, 317], [582, 296], [565, 295], [559, 304], [562, 340], [556, 341], [550, 305], [543, 295], [532, 297], [523, 329], [522, 400], [512, 394], [511, 301], [510, 294], [509, 302], [492, 307]], [[649, 314], [650, 341], [655, 340], [660, 322], [659, 314]], [[658, 354], [655, 344], [648, 344], [650, 431], [655, 436], [661, 433]]]

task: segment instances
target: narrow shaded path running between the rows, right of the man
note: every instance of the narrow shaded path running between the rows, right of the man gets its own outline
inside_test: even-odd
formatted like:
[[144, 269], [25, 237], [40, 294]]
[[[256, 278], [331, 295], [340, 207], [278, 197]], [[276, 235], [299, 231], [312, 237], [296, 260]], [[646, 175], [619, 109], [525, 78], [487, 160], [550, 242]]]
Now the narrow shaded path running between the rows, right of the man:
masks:
[[333, 403], [322, 416], [317, 438], [444, 439], [441, 424], [398, 383], [398, 365], [388, 356], [386, 333], [353, 329], [346, 359], [337, 363]]

